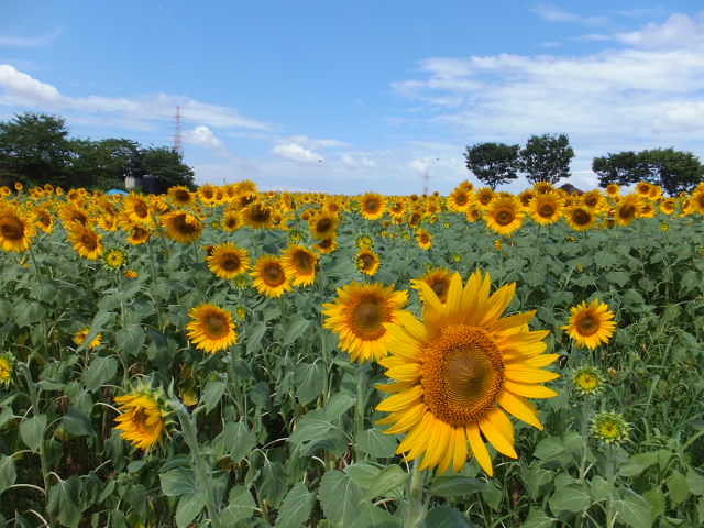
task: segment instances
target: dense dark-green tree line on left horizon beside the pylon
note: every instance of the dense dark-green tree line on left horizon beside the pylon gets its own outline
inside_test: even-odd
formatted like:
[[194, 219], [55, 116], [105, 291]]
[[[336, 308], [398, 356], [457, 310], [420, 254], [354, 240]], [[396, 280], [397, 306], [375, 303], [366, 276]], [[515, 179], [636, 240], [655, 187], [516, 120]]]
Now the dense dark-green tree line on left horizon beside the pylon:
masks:
[[[145, 179], [147, 175], [152, 177]], [[63, 118], [44, 113], [25, 112], [0, 122], [0, 185], [124, 189], [128, 176], [138, 184], [148, 180], [152, 193], [173, 185], [195, 188], [193, 168], [172, 147], [143, 147], [117, 138], [70, 138]]]

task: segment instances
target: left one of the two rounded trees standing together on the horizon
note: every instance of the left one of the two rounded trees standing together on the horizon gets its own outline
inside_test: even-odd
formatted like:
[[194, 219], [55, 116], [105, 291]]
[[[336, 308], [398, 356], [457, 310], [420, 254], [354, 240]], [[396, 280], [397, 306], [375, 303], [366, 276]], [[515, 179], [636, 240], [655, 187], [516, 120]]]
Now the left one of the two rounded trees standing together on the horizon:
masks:
[[466, 168], [493, 189], [518, 177], [519, 145], [506, 143], [476, 143], [466, 147]]

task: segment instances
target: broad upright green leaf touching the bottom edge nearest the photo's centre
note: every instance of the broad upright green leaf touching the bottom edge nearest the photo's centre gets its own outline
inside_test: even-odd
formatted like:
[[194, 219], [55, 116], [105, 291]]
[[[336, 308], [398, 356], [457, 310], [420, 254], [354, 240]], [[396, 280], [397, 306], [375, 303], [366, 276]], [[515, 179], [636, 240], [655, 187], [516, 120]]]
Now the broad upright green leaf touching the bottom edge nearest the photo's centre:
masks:
[[339, 470], [327, 471], [318, 488], [326, 517], [339, 526], [351, 526], [362, 513], [362, 490]]

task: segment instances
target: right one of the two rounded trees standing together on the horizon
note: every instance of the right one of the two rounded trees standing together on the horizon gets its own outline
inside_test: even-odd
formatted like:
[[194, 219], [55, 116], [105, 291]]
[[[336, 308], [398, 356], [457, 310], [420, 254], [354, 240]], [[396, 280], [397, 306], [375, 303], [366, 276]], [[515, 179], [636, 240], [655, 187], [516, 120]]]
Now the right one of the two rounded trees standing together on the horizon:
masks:
[[530, 183], [556, 184], [559, 179], [570, 177], [573, 157], [574, 151], [568, 134], [531, 135], [520, 151], [520, 168]]

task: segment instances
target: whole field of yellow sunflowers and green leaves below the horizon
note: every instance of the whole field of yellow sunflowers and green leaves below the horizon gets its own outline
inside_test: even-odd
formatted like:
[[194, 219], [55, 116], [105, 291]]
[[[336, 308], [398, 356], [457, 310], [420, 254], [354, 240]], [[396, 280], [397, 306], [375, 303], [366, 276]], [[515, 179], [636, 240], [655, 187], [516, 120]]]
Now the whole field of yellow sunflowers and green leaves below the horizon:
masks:
[[701, 527], [703, 219], [0, 188], [0, 526]]

